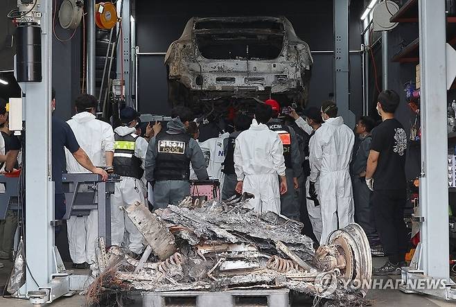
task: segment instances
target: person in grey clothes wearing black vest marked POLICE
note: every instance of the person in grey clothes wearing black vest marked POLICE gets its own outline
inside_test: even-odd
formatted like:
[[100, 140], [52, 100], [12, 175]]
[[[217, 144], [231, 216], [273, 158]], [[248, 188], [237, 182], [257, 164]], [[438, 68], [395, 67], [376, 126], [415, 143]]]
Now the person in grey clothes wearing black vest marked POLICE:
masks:
[[179, 204], [190, 195], [190, 162], [199, 180], [209, 179], [202, 150], [186, 132], [190, 109], [175, 107], [171, 118], [166, 132], [150, 140], [146, 153], [146, 179], [154, 186], [155, 209]]

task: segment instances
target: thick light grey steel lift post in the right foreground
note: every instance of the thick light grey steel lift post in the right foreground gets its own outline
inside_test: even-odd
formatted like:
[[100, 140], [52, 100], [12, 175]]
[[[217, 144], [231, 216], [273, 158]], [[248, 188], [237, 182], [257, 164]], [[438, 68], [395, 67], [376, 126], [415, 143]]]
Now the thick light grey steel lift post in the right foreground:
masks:
[[420, 211], [424, 274], [449, 279], [445, 1], [419, 1], [421, 62]]

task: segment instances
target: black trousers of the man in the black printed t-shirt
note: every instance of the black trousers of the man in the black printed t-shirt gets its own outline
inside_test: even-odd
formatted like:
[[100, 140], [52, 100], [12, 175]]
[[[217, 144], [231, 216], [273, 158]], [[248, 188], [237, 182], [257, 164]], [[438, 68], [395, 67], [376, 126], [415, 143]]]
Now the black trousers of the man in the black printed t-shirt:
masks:
[[378, 236], [391, 263], [405, 261], [407, 227], [404, 222], [405, 190], [381, 190], [372, 194]]

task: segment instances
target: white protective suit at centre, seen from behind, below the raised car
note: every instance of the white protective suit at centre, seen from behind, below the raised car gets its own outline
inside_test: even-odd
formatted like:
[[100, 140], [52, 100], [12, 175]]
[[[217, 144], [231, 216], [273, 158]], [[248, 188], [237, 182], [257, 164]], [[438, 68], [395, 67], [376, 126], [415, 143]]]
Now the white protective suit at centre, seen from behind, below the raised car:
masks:
[[240, 132], [234, 147], [234, 170], [243, 181], [243, 192], [255, 196], [249, 208], [280, 214], [279, 176], [285, 176], [283, 145], [279, 134], [254, 119], [248, 130]]

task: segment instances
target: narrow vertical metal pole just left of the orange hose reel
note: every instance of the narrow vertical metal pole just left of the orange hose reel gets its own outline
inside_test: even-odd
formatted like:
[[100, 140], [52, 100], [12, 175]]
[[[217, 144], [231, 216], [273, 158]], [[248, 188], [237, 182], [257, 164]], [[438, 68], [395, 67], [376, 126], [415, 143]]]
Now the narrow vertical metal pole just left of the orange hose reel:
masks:
[[87, 94], [95, 93], [95, 0], [87, 1]]

